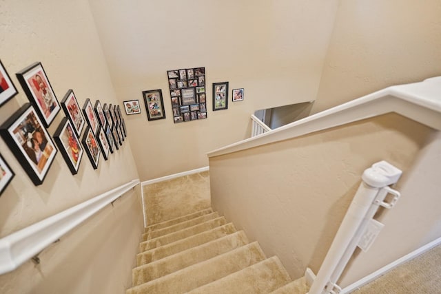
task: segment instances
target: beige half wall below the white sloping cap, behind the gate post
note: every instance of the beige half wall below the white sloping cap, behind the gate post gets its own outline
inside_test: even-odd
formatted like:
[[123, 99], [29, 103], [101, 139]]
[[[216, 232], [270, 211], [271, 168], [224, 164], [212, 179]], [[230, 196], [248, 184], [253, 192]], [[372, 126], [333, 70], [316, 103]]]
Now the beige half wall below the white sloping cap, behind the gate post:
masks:
[[[384, 216], [387, 248], [371, 249], [368, 260], [358, 257], [354, 275], [367, 275], [441, 235], [433, 205], [441, 169], [431, 164], [439, 162], [440, 146], [433, 129], [387, 114], [210, 158], [212, 205], [267, 255], [278, 255], [291, 277], [307, 266], [317, 273], [362, 172], [387, 160], [404, 171], [398, 184], [403, 202], [398, 213], [391, 211], [392, 220]], [[419, 171], [433, 174], [420, 181]], [[347, 280], [354, 282], [354, 275]]]

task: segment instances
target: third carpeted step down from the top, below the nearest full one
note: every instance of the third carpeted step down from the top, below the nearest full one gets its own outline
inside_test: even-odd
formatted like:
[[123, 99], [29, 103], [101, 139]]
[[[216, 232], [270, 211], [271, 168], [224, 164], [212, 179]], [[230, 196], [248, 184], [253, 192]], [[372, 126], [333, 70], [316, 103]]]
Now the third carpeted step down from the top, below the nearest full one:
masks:
[[199, 262], [170, 275], [134, 286], [126, 294], [136, 293], [185, 293], [225, 277], [252, 264], [265, 260], [265, 254], [257, 242], [241, 246], [215, 258]]

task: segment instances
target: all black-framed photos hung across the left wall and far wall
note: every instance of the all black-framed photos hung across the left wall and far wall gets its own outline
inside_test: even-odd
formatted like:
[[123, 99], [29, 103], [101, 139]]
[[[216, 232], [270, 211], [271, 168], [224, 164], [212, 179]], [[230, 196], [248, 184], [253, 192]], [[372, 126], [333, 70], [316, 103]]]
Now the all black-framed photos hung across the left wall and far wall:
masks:
[[[43, 183], [58, 151], [75, 175], [84, 154], [97, 169], [100, 158], [108, 160], [123, 146], [127, 129], [119, 105], [90, 98], [79, 105], [72, 89], [59, 101], [40, 62], [25, 67], [16, 76], [29, 103], [0, 125], [0, 136], [34, 185]], [[174, 123], [207, 118], [205, 67], [167, 70], [167, 81]], [[212, 84], [213, 111], [228, 109], [228, 84]], [[0, 60], [0, 107], [17, 93]], [[162, 90], [145, 90], [142, 94], [147, 120], [165, 119]], [[232, 102], [243, 101], [243, 97], [243, 88], [232, 91]], [[138, 99], [123, 101], [123, 107], [126, 115], [141, 114]], [[61, 109], [65, 117], [51, 136], [48, 127]], [[14, 171], [0, 154], [0, 196], [12, 178]]]

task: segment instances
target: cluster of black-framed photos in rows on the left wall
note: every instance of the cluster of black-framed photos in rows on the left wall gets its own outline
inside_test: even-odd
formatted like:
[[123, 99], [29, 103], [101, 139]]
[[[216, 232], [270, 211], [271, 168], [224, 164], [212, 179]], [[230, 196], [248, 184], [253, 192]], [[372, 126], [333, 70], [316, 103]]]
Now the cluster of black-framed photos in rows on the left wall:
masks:
[[[29, 103], [0, 125], [0, 136], [34, 185], [43, 183], [58, 151], [75, 175], [84, 154], [97, 169], [101, 158], [108, 160], [123, 146], [127, 129], [119, 105], [87, 98], [81, 106], [73, 90], [59, 101], [40, 62], [25, 67], [16, 76]], [[17, 94], [0, 61], [0, 107]], [[61, 109], [65, 117], [51, 136], [48, 127]], [[0, 154], [0, 196], [12, 178], [14, 171]]]

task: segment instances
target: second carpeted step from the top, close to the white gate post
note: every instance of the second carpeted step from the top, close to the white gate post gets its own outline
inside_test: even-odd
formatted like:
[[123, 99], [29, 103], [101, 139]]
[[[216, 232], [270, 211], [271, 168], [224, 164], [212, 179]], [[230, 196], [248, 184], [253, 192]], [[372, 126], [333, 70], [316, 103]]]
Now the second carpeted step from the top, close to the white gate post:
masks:
[[291, 282], [280, 260], [274, 256], [190, 291], [191, 294], [270, 293]]

